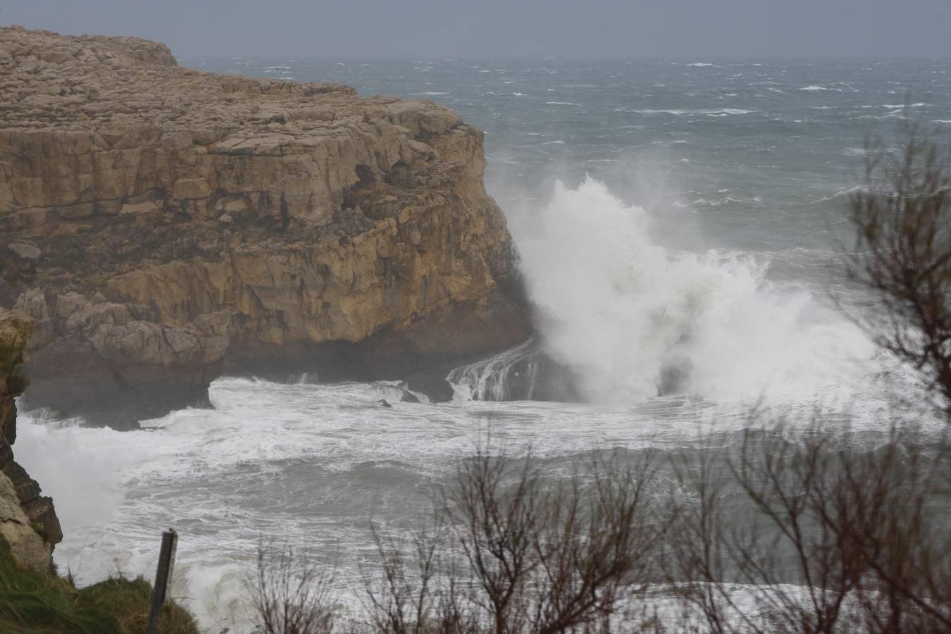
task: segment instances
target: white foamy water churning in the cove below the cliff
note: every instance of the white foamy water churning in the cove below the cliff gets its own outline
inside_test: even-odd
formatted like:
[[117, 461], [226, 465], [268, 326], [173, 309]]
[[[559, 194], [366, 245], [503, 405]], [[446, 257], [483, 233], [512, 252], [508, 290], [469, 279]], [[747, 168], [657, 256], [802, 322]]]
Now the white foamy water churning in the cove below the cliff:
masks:
[[[359, 587], [359, 567], [374, 556], [369, 518], [413, 521], [426, 504], [417, 487], [451, 473], [489, 425], [506, 446], [531, 444], [552, 457], [593, 447], [670, 450], [712, 417], [724, 432], [746, 425], [734, 405], [683, 397], [620, 408], [430, 405], [400, 403], [395, 389], [224, 378], [210, 390], [214, 409], [170, 413], [139, 432], [26, 413], [17, 458], [57, 500], [66, 539], [55, 559], [81, 585], [119, 570], [150, 576], [159, 533], [174, 526], [172, 596], [205, 628], [250, 632], [245, 580], [262, 536], [307, 548]], [[380, 407], [380, 397], [393, 407]]]

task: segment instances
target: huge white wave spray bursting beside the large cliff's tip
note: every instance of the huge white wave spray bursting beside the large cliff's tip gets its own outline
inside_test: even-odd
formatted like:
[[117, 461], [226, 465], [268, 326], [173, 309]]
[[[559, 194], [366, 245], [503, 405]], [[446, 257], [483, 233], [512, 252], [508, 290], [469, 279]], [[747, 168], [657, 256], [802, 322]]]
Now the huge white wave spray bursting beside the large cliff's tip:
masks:
[[668, 252], [647, 224], [589, 178], [556, 184], [521, 242], [549, 353], [588, 398], [807, 393], [867, 371], [867, 338], [843, 319], [809, 322], [817, 307], [802, 287], [770, 284], [742, 255]]

